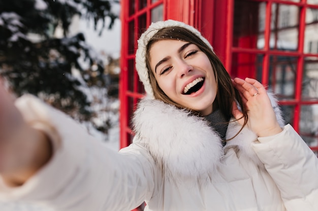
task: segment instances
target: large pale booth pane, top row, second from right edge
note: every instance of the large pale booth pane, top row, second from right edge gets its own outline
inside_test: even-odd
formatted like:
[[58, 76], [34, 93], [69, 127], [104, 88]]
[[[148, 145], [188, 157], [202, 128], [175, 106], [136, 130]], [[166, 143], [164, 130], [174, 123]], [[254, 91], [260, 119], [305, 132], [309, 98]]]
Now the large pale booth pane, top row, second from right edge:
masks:
[[296, 51], [298, 49], [299, 8], [294, 5], [273, 4], [270, 49]]

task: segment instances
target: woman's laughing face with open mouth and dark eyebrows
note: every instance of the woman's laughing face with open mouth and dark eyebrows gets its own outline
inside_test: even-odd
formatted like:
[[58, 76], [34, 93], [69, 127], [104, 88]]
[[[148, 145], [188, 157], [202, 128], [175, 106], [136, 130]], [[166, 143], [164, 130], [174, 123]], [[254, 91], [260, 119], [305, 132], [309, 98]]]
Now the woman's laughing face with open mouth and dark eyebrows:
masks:
[[212, 112], [216, 81], [209, 58], [196, 45], [179, 40], [160, 40], [150, 48], [150, 68], [159, 87], [175, 103]]

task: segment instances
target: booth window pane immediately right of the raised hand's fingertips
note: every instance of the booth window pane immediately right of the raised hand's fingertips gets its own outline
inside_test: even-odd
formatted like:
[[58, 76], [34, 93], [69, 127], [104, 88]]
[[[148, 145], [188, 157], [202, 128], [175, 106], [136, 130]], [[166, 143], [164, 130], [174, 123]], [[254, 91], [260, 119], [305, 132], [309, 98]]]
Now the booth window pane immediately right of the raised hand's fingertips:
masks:
[[297, 57], [271, 56], [268, 86], [280, 100], [295, 99]]

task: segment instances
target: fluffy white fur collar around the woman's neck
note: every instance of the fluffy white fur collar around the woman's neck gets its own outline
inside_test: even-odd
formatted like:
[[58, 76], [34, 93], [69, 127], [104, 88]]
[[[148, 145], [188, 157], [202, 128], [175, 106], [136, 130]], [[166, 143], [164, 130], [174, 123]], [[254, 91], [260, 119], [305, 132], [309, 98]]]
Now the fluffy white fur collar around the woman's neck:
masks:
[[[270, 95], [271, 97], [272, 95]], [[276, 100], [271, 97], [272, 105], [280, 125], [283, 125]], [[142, 99], [135, 111], [135, 141], [143, 143], [151, 153], [158, 167], [167, 177], [201, 178], [211, 175], [230, 144], [222, 148], [217, 133], [208, 122], [198, 116], [189, 115], [173, 105], [160, 100]], [[233, 137], [241, 126], [231, 121], [227, 139]], [[263, 165], [251, 143], [257, 136], [244, 128], [231, 142], [242, 151], [242, 154]]]

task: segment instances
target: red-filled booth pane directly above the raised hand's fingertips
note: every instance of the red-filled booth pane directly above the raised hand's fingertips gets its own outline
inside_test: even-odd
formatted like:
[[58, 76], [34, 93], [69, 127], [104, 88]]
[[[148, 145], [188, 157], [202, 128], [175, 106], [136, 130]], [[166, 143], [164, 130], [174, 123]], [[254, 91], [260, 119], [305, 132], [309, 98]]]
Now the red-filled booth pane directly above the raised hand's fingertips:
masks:
[[233, 77], [251, 77], [262, 81], [263, 55], [233, 53], [231, 75]]

